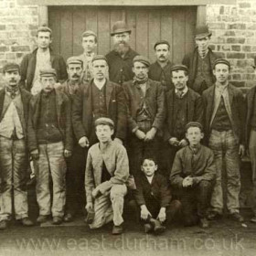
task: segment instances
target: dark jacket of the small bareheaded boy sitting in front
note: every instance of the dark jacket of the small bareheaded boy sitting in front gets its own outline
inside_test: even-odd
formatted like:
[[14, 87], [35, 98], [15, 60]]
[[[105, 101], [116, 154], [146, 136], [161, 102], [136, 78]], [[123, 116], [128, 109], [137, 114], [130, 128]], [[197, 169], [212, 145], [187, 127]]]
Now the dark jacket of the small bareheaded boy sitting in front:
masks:
[[135, 183], [134, 197], [139, 206], [150, 204], [152, 197], [155, 197], [155, 200], [159, 202], [160, 208], [169, 206], [172, 196], [165, 176], [155, 173], [150, 184], [146, 176], [142, 174], [139, 178], [135, 179]]

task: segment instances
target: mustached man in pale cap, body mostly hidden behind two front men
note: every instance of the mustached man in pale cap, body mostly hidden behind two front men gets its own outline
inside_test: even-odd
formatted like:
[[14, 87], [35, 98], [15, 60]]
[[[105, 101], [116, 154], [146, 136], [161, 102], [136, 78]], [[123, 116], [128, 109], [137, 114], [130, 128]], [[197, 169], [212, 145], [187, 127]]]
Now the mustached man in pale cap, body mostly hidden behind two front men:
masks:
[[[62, 83], [58, 89], [59, 91], [66, 93], [72, 103], [75, 95], [84, 87], [84, 82], [81, 80], [83, 75], [83, 60], [80, 59], [80, 57], [69, 57], [69, 59], [67, 59], [67, 72], [69, 79]], [[65, 222], [71, 221], [76, 214], [80, 213], [85, 204], [83, 186], [85, 150], [78, 144], [78, 142], [76, 142], [77, 140], [74, 133], [73, 141], [72, 155], [69, 158], [66, 158], [67, 199], [65, 216], [63, 218]]]

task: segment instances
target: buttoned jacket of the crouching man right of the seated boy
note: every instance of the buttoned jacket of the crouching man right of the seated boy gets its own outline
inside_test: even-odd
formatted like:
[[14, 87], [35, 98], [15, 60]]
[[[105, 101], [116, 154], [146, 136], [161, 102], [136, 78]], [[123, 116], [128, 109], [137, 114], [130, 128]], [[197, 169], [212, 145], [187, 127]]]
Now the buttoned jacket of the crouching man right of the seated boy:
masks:
[[171, 186], [182, 187], [183, 179], [187, 176], [194, 177], [196, 184], [201, 180], [215, 179], [214, 154], [208, 147], [200, 145], [195, 153], [187, 145], [176, 153], [170, 175]]

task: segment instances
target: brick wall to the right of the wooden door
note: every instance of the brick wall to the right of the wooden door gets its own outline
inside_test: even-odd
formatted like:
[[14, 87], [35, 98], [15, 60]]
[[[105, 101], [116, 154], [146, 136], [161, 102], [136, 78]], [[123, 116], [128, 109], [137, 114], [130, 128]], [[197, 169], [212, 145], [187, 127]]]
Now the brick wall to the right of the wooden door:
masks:
[[[214, 1], [213, 1], [214, 2]], [[239, 87], [256, 84], [256, 1], [237, 0], [237, 5], [208, 5], [207, 23], [212, 31], [211, 48], [229, 59], [230, 80]]]

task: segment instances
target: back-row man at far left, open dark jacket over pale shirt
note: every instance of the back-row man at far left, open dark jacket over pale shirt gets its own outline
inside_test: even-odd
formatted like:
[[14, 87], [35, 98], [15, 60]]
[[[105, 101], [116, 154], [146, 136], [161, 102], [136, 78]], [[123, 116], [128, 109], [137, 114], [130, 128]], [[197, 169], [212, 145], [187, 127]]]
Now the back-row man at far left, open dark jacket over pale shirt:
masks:
[[42, 26], [37, 29], [37, 48], [27, 54], [20, 64], [20, 85], [33, 95], [41, 91], [40, 69], [55, 69], [56, 80], [67, 80], [67, 70], [64, 59], [53, 53], [50, 44], [52, 31], [49, 27]]

